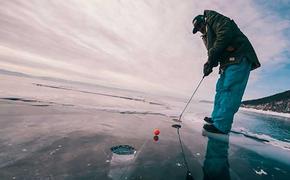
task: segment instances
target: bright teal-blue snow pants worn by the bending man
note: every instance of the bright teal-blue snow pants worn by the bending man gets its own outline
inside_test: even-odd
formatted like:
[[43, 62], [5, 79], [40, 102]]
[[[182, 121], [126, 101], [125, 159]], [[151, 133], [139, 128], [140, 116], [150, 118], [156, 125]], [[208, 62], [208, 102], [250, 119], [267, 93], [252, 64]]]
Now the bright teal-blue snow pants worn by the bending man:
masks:
[[247, 58], [239, 64], [229, 65], [216, 84], [213, 125], [224, 133], [231, 130], [234, 114], [239, 110], [251, 71]]

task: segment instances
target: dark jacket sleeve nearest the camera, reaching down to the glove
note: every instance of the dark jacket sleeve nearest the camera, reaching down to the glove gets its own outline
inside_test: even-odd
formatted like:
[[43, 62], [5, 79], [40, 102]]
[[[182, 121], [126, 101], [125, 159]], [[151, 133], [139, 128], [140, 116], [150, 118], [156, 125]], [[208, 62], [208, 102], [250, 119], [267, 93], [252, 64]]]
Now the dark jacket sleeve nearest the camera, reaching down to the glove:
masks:
[[216, 35], [216, 40], [213, 42], [213, 46], [208, 50], [208, 61], [214, 67], [218, 65], [222, 52], [232, 39], [232, 22], [229, 18], [219, 17], [218, 15], [213, 21], [211, 29]]

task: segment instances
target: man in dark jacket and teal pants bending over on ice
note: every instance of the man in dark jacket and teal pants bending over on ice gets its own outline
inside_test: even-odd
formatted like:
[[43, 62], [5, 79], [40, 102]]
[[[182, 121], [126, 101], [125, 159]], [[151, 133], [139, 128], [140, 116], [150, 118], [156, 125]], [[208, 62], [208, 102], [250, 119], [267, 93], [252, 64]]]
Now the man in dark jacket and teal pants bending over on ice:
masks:
[[204, 130], [212, 133], [228, 134], [234, 114], [238, 111], [251, 70], [260, 67], [259, 60], [248, 38], [230, 18], [212, 10], [193, 21], [193, 34], [202, 34], [208, 50], [208, 60], [204, 64], [204, 76], [219, 65], [220, 77], [216, 84], [214, 108]]

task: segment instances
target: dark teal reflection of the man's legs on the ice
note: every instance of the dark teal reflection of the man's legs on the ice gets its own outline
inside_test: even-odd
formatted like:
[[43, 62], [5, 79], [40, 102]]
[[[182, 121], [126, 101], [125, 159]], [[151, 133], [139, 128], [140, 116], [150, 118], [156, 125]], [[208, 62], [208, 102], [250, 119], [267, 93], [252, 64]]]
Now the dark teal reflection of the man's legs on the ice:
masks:
[[204, 180], [229, 180], [228, 162], [229, 138], [208, 136], [205, 160], [203, 163]]

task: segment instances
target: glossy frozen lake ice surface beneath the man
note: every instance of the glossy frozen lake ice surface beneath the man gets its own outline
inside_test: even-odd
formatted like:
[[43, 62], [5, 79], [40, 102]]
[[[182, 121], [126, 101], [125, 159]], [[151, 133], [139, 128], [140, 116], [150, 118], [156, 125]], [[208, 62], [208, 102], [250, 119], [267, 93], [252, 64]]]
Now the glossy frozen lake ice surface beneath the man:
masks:
[[[13, 76], [1, 77], [0, 98], [0, 179], [185, 179], [178, 135], [171, 127], [185, 102]], [[201, 118], [210, 112], [208, 106], [194, 102], [181, 123], [194, 179], [289, 178], [287, 141], [278, 135], [261, 138], [262, 129], [248, 127], [267, 127], [269, 119], [239, 113], [234, 130], [240, 134], [205, 137]], [[287, 135], [282, 122], [274, 120]], [[157, 141], [155, 128], [161, 131]], [[111, 148], [118, 145], [136, 152], [114, 154]]]

